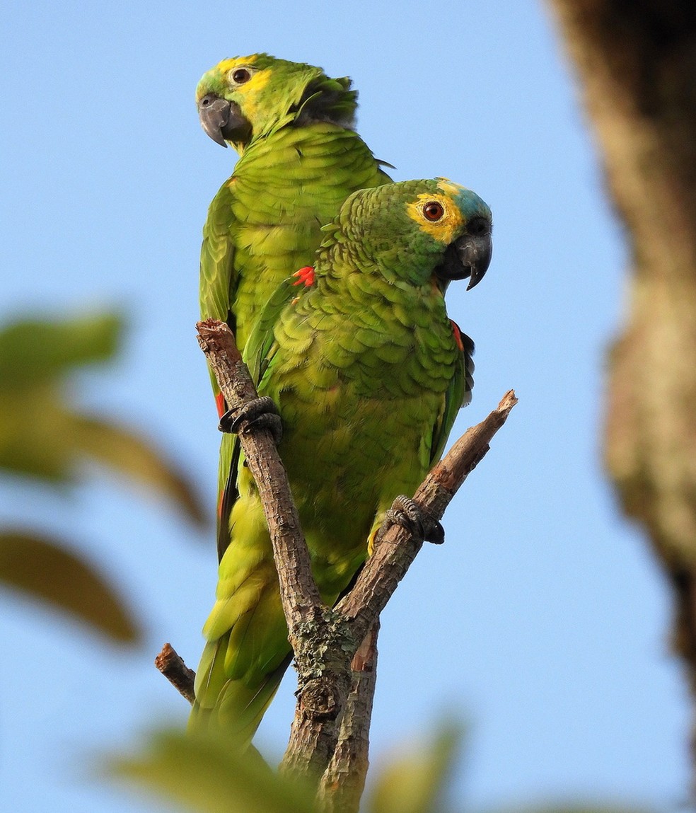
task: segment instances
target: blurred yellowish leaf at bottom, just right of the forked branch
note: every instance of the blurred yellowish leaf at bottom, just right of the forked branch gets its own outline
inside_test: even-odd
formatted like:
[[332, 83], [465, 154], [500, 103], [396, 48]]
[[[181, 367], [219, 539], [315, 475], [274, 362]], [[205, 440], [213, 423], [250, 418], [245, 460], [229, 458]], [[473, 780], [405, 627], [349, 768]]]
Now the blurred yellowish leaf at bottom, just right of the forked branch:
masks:
[[447, 724], [430, 742], [395, 757], [376, 776], [370, 813], [435, 813], [462, 741], [463, 729]]

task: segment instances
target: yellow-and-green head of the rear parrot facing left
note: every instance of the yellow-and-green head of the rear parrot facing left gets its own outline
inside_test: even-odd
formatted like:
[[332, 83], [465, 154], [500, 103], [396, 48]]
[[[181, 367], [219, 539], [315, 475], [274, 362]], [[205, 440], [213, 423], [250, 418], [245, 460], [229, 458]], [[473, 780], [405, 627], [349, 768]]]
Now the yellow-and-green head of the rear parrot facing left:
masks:
[[330, 121], [350, 128], [358, 93], [350, 79], [331, 79], [320, 67], [269, 54], [223, 59], [196, 89], [202, 128], [237, 149], [285, 124]]

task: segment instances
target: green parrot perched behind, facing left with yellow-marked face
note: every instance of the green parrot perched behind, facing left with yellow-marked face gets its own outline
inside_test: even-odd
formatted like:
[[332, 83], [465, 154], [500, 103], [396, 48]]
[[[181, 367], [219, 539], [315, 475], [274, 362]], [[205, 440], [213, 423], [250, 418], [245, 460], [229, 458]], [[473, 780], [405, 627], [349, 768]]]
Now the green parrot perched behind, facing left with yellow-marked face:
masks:
[[[215, 195], [203, 228], [201, 318], [219, 319], [243, 350], [254, 318], [285, 277], [312, 263], [320, 227], [356, 189], [389, 182], [358, 133], [350, 79], [268, 54], [224, 59], [198, 83], [198, 115], [240, 159]], [[219, 415], [225, 409], [213, 378]], [[238, 461], [220, 448], [218, 553], [229, 544], [234, 495], [224, 483]]]

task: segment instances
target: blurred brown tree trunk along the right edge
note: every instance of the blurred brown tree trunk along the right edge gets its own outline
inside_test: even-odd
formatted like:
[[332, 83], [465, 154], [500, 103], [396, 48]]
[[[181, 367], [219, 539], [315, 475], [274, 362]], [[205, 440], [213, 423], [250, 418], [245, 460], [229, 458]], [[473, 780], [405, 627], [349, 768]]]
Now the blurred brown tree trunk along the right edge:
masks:
[[550, 5], [631, 248], [607, 466], [673, 585], [673, 641], [696, 698], [696, 2]]

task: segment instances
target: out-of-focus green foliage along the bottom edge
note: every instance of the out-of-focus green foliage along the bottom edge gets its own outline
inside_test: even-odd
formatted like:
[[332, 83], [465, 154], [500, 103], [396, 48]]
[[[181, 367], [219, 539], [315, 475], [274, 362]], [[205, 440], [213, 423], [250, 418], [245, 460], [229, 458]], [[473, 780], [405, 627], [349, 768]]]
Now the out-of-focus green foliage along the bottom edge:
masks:
[[[407, 753], [378, 764], [368, 813], [463, 811], [444, 801], [461, 746], [461, 729], [446, 725]], [[196, 813], [320, 813], [310, 789], [279, 776], [259, 754], [230, 753], [228, 741], [211, 732], [155, 734], [137, 756], [111, 763], [110, 771], [150, 793]], [[602, 805], [517, 806], [515, 813], [648, 813]], [[346, 811], [350, 813], [350, 811]], [[513, 808], [499, 813], [513, 813]]]

